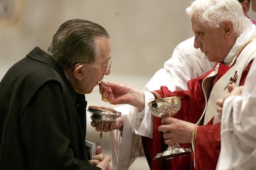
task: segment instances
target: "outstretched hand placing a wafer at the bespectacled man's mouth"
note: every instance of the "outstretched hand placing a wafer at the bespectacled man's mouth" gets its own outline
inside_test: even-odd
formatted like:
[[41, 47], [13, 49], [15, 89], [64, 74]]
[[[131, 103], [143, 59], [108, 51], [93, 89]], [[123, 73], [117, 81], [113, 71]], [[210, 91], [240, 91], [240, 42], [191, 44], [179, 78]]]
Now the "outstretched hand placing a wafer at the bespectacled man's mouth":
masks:
[[111, 104], [130, 104], [143, 110], [144, 93], [125, 84], [101, 81], [99, 83], [100, 94], [103, 99]]

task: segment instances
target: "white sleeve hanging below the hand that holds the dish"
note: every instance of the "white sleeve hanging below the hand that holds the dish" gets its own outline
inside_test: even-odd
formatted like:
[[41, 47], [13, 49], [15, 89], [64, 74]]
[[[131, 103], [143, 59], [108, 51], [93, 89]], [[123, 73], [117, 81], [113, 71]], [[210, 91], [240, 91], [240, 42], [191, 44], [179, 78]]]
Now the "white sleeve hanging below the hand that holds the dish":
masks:
[[131, 105], [115, 108], [121, 111], [124, 126], [122, 132], [119, 130], [109, 132], [113, 170], [129, 169], [137, 157], [144, 156], [141, 136], [135, 134], [132, 129], [134, 109]]

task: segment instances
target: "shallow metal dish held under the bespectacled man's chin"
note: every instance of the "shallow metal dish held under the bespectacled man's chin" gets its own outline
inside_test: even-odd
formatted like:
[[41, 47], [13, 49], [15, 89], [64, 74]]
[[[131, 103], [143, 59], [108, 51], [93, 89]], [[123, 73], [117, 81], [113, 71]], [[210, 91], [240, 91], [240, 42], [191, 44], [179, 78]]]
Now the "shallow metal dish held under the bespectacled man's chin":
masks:
[[116, 118], [121, 116], [121, 112], [115, 110], [109, 110], [106, 108], [96, 108], [96, 107], [88, 107], [88, 110], [92, 115], [92, 121], [95, 121], [96, 124], [101, 123], [101, 132], [100, 139], [102, 137], [103, 126], [105, 123], [113, 123], [116, 121]]

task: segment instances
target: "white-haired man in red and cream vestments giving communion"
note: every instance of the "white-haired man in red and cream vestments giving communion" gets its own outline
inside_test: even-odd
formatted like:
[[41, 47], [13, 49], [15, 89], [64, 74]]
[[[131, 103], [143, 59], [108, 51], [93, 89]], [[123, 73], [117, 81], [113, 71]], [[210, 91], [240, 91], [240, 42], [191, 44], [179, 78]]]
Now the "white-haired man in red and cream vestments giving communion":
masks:
[[[186, 11], [195, 34], [194, 47], [200, 48], [208, 60], [216, 62], [212, 70], [190, 80], [187, 91], [171, 92], [162, 86], [158, 91], [145, 92], [106, 82], [100, 87], [109, 103], [133, 105], [141, 111], [138, 122], [153, 124], [146, 129], [148, 137], [143, 137], [151, 169], [216, 169], [221, 141], [216, 100], [228, 92], [228, 84], [244, 84], [256, 55], [255, 25], [244, 16], [239, 2], [196, 0]], [[181, 96], [181, 110], [173, 118], [150, 115], [148, 102], [177, 95]], [[165, 150], [165, 144], [174, 143], [192, 146], [193, 153], [171, 160], [153, 160], [156, 153]]]

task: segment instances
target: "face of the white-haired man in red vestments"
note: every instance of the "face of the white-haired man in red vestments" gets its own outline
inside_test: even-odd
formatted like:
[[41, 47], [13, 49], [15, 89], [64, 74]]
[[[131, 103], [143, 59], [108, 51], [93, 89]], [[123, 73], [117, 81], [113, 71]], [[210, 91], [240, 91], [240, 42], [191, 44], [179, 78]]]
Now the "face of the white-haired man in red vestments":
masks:
[[194, 47], [200, 48], [211, 62], [223, 62], [230, 49], [226, 46], [228, 39], [225, 37], [222, 26], [207, 28], [198, 22], [197, 17], [192, 17], [191, 22], [195, 34]]

